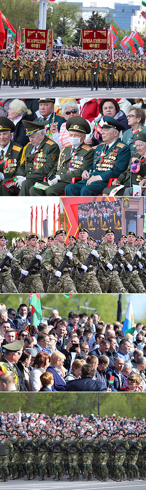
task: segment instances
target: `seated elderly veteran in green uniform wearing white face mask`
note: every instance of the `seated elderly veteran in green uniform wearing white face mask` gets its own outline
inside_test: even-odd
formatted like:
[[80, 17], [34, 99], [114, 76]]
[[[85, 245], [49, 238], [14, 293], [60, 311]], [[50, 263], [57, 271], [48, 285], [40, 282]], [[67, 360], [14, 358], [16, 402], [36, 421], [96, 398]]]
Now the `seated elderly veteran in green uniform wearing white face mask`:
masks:
[[[80, 174], [93, 162], [94, 150], [84, 144], [86, 134], [91, 132], [86, 119], [73, 116], [67, 121], [66, 128], [70, 132], [71, 146], [61, 149], [58, 163], [48, 174], [49, 187], [46, 192], [41, 191], [41, 195], [61, 195], [66, 185], [71, 183], [72, 178], [80, 177]], [[30, 189], [31, 196], [38, 196], [38, 193], [40, 195], [37, 189]]]

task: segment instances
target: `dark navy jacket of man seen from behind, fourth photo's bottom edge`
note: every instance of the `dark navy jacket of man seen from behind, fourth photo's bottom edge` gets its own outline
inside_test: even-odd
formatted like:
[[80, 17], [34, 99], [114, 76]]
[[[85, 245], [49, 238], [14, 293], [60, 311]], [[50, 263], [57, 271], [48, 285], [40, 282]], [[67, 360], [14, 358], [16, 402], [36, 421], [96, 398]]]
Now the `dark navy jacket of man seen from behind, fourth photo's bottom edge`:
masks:
[[104, 383], [92, 378], [79, 378], [67, 381], [66, 392], [106, 392]]

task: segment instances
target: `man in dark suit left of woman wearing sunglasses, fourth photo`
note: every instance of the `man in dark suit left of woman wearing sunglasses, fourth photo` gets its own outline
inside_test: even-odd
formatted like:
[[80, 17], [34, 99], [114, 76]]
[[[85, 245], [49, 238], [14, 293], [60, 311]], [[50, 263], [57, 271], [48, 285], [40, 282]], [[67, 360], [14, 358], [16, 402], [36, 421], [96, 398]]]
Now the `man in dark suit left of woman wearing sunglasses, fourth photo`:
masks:
[[[114, 366], [111, 366], [106, 371], [107, 385], [109, 382], [109, 387], [111, 391], [116, 390], [121, 391], [121, 387], [124, 388], [124, 376], [122, 374], [122, 369], [124, 368], [124, 360], [121, 357], [117, 357], [114, 361]], [[114, 376], [113, 383], [110, 384], [110, 376]]]

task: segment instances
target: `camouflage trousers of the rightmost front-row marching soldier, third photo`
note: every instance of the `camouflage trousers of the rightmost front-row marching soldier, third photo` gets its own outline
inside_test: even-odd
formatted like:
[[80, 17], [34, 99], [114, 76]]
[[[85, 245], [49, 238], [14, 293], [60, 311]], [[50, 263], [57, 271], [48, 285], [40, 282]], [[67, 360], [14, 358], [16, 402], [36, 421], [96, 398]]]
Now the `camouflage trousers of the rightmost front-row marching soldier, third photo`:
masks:
[[146, 293], [146, 289], [144, 288], [137, 271], [130, 272], [128, 279], [126, 279], [125, 273], [122, 270], [120, 277], [128, 293]]

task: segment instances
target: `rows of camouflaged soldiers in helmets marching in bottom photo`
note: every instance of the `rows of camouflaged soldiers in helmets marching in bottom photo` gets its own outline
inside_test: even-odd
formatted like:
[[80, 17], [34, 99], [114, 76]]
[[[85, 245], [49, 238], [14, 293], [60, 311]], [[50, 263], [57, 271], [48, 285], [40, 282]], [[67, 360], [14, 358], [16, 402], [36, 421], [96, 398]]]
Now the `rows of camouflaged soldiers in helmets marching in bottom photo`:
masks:
[[54, 482], [64, 475], [70, 482], [146, 480], [146, 431], [103, 429], [94, 437], [89, 428], [78, 437], [72, 427], [65, 438], [59, 428], [54, 435], [42, 428], [40, 436], [31, 429], [27, 436], [15, 427], [12, 434], [1, 430], [0, 473], [1, 482], [11, 475], [10, 480], [26, 475], [26, 481], [37, 475], [40, 481], [54, 475]]

